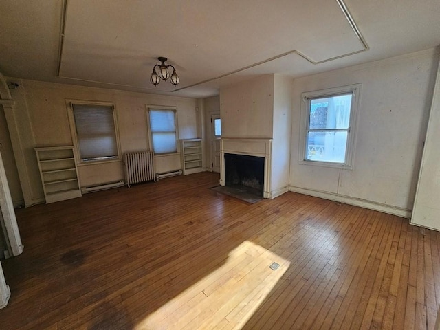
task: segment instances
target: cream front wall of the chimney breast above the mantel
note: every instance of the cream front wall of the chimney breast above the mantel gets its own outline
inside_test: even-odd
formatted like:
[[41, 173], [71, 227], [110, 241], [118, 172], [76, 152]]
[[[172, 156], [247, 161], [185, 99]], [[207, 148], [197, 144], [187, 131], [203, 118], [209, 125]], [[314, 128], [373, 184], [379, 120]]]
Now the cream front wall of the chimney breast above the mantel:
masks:
[[274, 75], [220, 89], [222, 137], [271, 138]]

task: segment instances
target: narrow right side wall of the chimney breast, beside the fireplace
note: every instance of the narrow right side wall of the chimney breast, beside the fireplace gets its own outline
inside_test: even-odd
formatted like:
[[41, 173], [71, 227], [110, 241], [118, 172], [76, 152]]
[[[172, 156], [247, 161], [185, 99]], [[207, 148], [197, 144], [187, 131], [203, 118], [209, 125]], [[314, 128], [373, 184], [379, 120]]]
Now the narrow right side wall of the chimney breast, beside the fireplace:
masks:
[[288, 76], [274, 75], [271, 190], [276, 195], [289, 190], [293, 81]]

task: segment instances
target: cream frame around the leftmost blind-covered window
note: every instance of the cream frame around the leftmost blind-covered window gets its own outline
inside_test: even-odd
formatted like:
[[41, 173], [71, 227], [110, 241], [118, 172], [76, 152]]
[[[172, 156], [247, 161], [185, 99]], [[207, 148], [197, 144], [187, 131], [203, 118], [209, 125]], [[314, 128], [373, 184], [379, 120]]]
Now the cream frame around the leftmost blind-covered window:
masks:
[[[109, 159], [90, 159], [90, 160], [83, 160], [81, 158], [80, 143], [78, 140], [78, 134], [76, 133], [76, 122], [75, 122], [73, 104], [83, 104], [83, 105], [91, 105], [91, 106], [102, 105], [104, 107], [112, 107], [112, 109], [113, 109], [113, 123], [115, 125], [116, 147], [118, 149], [118, 156], [117, 157], [109, 158]], [[120, 148], [120, 139], [119, 139], [119, 131], [118, 131], [118, 115], [116, 113], [115, 103], [67, 99], [66, 106], [67, 106], [67, 115], [69, 118], [70, 133], [72, 135], [72, 142], [74, 143], [74, 146], [75, 146], [74, 151], [76, 153], [76, 159], [78, 159], [78, 166], [99, 164], [99, 163], [109, 163], [109, 162], [121, 162], [122, 161], [122, 153], [121, 153], [121, 148]]]

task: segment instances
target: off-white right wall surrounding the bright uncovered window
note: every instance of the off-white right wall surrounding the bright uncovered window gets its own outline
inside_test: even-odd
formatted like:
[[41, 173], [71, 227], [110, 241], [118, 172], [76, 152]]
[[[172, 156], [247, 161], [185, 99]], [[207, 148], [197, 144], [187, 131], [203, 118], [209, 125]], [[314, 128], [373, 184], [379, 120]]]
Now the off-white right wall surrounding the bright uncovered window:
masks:
[[[436, 50], [294, 80], [291, 190], [408, 217], [432, 99]], [[301, 94], [362, 83], [353, 170], [298, 164]]]

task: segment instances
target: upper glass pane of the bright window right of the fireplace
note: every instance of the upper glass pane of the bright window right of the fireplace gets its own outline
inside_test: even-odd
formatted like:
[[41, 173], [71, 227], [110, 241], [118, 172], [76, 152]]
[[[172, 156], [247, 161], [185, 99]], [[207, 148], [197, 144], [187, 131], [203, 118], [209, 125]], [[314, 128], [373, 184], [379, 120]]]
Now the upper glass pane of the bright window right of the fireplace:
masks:
[[348, 129], [352, 94], [310, 100], [309, 129]]

